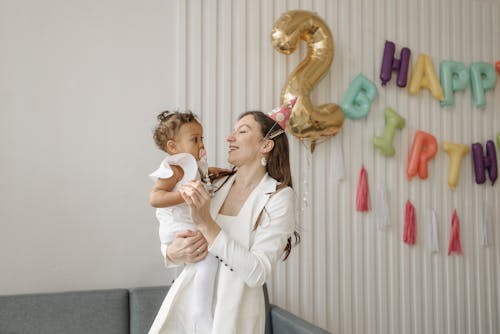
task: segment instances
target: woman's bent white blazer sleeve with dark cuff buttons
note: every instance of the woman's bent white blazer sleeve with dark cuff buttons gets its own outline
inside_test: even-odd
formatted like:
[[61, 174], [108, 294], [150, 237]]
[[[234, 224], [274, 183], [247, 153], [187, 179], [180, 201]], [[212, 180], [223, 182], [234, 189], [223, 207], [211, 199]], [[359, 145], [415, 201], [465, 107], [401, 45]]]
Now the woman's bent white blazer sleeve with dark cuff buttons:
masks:
[[[250, 218], [248, 218], [250, 219]], [[262, 286], [283, 255], [295, 228], [295, 192], [287, 187], [273, 194], [260, 217], [250, 249], [221, 230], [209, 248], [249, 287]]]

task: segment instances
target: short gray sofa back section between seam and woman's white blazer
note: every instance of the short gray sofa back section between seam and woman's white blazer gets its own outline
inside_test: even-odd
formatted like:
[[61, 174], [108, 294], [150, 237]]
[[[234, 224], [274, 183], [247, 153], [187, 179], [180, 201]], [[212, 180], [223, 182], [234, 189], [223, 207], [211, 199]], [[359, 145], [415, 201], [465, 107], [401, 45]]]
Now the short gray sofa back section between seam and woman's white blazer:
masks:
[[130, 289], [130, 334], [149, 331], [169, 286]]

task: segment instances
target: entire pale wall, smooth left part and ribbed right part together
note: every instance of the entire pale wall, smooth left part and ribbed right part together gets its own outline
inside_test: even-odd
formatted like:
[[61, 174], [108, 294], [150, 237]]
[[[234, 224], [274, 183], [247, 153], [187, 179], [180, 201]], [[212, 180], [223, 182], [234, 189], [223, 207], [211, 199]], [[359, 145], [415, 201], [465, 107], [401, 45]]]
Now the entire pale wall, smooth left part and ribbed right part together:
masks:
[[[154, 117], [176, 105], [200, 113], [211, 162], [224, 165], [233, 120], [276, 106], [306, 55], [304, 47], [285, 56], [270, 45], [273, 22], [297, 8], [318, 12], [335, 38], [333, 65], [313, 101], [340, 103], [358, 73], [379, 96], [366, 119], [346, 120], [312, 156], [290, 138], [303, 241], [270, 282], [272, 301], [335, 333], [497, 333], [500, 209], [493, 246], [480, 245], [480, 228], [483, 202], [499, 201], [499, 181], [476, 185], [470, 155], [455, 192], [444, 152], [426, 181], [409, 183], [406, 163], [417, 129], [440, 144], [493, 139], [500, 83], [481, 111], [470, 88], [444, 110], [428, 91], [414, 97], [395, 79], [385, 88], [378, 80], [386, 39], [409, 47], [412, 65], [420, 53], [436, 69], [445, 59], [500, 60], [497, 0], [0, 0], [0, 293], [168, 283], [147, 203], [146, 176], [161, 158]], [[386, 106], [407, 121], [394, 158], [371, 144]], [[331, 168], [336, 142], [345, 153], [340, 183]], [[373, 211], [355, 211], [362, 164], [372, 203], [379, 184], [388, 189], [386, 232]], [[413, 247], [402, 242], [407, 199], [417, 213]], [[434, 255], [432, 207], [441, 247]], [[454, 208], [461, 257], [446, 255]]]

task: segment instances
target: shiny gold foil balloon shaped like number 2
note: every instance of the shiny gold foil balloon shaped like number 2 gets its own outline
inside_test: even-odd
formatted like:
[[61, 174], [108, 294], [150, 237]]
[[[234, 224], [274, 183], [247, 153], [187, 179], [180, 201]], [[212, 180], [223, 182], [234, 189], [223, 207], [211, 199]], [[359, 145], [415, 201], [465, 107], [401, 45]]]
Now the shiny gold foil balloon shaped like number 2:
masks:
[[311, 141], [311, 152], [320, 137], [336, 135], [344, 124], [342, 109], [335, 103], [314, 106], [310, 93], [333, 61], [333, 37], [326, 23], [315, 13], [292, 10], [274, 23], [273, 47], [291, 54], [298, 43], [307, 43], [307, 57], [294, 69], [281, 91], [281, 104], [297, 98], [287, 125], [295, 137]]

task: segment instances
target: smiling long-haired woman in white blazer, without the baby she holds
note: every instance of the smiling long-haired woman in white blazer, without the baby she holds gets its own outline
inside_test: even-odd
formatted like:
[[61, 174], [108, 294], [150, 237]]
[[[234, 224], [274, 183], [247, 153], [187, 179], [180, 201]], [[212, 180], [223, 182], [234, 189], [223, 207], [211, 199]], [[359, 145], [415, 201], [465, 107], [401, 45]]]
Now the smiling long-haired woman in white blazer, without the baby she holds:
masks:
[[236, 172], [216, 184], [215, 196], [210, 198], [199, 181], [180, 189], [201, 235], [186, 231], [169, 245], [167, 263], [188, 265], [170, 288], [150, 333], [197, 333], [191, 263], [207, 251], [219, 260], [212, 333], [264, 333], [262, 285], [278, 260], [288, 257], [295, 227], [288, 139], [264, 113], [246, 112], [227, 142], [228, 161]]

